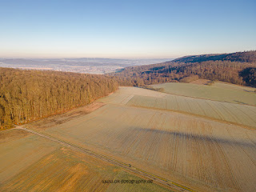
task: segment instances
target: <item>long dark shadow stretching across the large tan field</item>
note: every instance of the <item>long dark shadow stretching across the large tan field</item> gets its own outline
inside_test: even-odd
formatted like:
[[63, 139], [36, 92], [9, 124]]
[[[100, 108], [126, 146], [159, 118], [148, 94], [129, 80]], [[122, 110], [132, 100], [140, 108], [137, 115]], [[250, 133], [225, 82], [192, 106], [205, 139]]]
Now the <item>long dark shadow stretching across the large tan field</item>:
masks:
[[[256, 142], [246, 142], [246, 141], [239, 141], [235, 139], [227, 139], [227, 138], [216, 138], [216, 137], [210, 137], [206, 135], [199, 135], [199, 134], [186, 134], [186, 133], [180, 133], [178, 131], [167, 131], [167, 130], [153, 130], [153, 129], [143, 129], [143, 128], [135, 128], [135, 130], [142, 131], [145, 133], [148, 132], [154, 132], [155, 134], [169, 134], [172, 135], [174, 138], [178, 139], [191, 139], [198, 142], [210, 142], [214, 144], [214, 142], [218, 142], [220, 144], [225, 145], [238, 145], [238, 146], [245, 146], [245, 147], [254, 147], [256, 148]], [[161, 138], [159, 138], [161, 139]]]

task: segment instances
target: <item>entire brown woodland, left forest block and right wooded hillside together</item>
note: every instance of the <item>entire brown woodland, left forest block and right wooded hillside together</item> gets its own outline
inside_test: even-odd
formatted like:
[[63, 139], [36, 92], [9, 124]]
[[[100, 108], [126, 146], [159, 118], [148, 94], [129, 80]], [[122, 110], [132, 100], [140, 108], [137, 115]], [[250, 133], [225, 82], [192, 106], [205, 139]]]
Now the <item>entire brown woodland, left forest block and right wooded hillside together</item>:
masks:
[[114, 92], [118, 86], [152, 89], [147, 85], [198, 78], [256, 86], [255, 61], [256, 51], [247, 51], [187, 56], [154, 65], [130, 66], [105, 75], [0, 68], [0, 127], [84, 106]]

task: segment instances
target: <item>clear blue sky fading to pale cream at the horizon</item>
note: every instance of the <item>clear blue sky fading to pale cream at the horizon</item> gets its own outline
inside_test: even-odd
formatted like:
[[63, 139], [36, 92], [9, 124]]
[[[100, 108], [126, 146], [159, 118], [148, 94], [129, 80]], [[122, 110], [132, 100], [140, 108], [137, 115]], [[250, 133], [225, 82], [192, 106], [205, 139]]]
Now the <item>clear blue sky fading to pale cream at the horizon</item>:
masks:
[[2, 58], [178, 58], [256, 50], [255, 0], [0, 0]]

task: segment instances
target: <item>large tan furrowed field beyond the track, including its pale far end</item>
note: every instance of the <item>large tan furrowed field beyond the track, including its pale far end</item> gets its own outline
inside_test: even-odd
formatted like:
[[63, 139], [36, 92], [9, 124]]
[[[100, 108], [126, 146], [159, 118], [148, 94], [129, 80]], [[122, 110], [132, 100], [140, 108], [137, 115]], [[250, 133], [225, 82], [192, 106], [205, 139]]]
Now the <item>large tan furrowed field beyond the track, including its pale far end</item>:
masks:
[[[255, 130], [202, 115], [130, 104], [138, 98], [143, 102], [168, 97], [153, 90], [121, 87], [100, 99], [106, 105], [98, 110], [42, 131], [195, 190], [255, 191]], [[42, 124], [28, 127], [38, 123]]]

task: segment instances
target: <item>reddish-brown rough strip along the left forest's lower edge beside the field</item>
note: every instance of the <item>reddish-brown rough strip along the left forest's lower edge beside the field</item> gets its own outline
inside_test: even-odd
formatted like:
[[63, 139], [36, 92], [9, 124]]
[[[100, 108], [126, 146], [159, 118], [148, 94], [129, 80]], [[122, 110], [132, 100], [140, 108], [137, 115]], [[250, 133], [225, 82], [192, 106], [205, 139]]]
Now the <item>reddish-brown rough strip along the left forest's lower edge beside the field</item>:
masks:
[[64, 114], [54, 115], [49, 118], [44, 118], [36, 122], [30, 122], [24, 125], [26, 128], [33, 129], [46, 129], [52, 126], [60, 125], [64, 122], [68, 122], [74, 118], [81, 117], [82, 115], [90, 114], [92, 111], [97, 110], [98, 108], [105, 106], [106, 103], [102, 102], [92, 102], [90, 105], [78, 107], [74, 110], [70, 110]]

